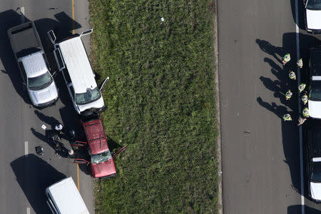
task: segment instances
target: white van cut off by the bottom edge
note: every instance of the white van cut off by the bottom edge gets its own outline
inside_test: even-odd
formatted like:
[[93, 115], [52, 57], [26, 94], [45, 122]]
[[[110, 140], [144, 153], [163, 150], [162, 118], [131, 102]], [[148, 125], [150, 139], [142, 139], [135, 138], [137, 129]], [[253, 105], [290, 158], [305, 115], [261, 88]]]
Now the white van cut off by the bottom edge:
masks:
[[46, 188], [47, 204], [54, 214], [88, 214], [86, 204], [71, 177]]

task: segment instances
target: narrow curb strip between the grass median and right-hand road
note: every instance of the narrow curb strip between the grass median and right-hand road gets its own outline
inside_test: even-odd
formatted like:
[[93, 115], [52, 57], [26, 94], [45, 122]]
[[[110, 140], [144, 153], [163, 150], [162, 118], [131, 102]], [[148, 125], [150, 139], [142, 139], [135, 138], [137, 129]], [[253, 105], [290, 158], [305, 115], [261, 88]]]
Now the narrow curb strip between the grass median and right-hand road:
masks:
[[216, 141], [217, 147], [217, 167], [218, 167], [218, 213], [223, 214], [223, 188], [222, 188], [222, 142], [220, 138], [220, 87], [218, 81], [218, 0], [213, 0], [213, 12], [214, 12], [214, 20], [213, 20], [213, 31], [214, 31], [214, 55], [215, 55], [215, 98], [216, 105], [215, 108], [217, 110], [216, 121], [218, 121], [218, 138]]

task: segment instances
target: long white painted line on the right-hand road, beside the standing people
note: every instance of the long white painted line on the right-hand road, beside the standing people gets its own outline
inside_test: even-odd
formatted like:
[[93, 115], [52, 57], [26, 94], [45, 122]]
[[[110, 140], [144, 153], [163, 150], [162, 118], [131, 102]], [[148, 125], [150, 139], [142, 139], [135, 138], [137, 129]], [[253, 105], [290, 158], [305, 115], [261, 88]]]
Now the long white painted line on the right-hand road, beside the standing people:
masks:
[[[299, 41], [299, 11], [298, 11], [297, 0], [295, 0], [295, 39], [297, 41], [297, 60], [300, 58], [300, 41]], [[300, 68], [297, 67], [297, 86], [299, 86], [301, 81], [300, 78]], [[300, 93], [299, 93], [300, 94]], [[301, 99], [297, 96], [297, 101], [299, 103], [299, 113], [301, 112]], [[299, 128], [299, 141], [300, 141], [300, 180], [301, 180], [301, 213], [305, 214], [305, 189], [304, 189], [304, 177], [303, 177], [303, 143], [302, 143], [302, 126]]]

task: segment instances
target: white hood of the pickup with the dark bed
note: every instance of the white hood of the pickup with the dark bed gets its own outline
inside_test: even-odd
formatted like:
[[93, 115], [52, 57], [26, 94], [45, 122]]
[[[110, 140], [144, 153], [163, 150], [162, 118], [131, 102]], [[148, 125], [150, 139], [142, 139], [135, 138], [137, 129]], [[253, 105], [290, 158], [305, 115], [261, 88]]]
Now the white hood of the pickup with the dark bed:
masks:
[[29, 95], [31, 98], [31, 102], [34, 103], [35, 106], [38, 106], [41, 103], [47, 103], [58, 98], [58, 91], [56, 88], [56, 84], [53, 81], [47, 88], [38, 91], [29, 90]]

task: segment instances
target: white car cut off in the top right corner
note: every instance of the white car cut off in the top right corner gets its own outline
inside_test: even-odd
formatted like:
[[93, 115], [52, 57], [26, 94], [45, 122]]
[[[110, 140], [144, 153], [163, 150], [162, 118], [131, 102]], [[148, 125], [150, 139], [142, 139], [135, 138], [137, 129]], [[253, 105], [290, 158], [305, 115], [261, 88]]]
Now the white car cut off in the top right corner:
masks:
[[312, 34], [321, 33], [321, 1], [303, 0], [305, 5], [305, 28]]

